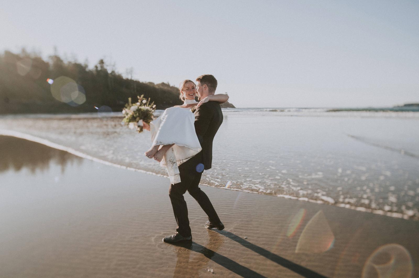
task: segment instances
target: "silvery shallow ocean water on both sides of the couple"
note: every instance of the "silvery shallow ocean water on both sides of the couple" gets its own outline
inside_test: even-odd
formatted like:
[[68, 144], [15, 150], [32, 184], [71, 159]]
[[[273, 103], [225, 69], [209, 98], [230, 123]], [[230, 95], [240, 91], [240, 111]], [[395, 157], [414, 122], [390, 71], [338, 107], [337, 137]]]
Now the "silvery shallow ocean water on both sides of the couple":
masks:
[[[327, 110], [223, 109], [202, 184], [419, 220], [419, 113]], [[150, 134], [121, 120], [119, 112], [3, 116], [0, 129], [166, 174], [143, 156]]]

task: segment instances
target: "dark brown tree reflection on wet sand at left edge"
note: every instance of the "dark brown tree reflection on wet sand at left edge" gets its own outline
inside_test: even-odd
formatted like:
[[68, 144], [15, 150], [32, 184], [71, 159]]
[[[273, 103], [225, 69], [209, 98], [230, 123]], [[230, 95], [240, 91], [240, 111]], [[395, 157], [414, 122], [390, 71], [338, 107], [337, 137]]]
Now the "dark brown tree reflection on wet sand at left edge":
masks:
[[32, 173], [36, 169], [44, 171], [52, 160], [64, 172], [68, 162], [81, 163], [83, 160], [67, 152], [12, 136], [0, 136], [0, 154], [0, 173], [9, 169], [18, 172], [23, 168], [28, 168]]

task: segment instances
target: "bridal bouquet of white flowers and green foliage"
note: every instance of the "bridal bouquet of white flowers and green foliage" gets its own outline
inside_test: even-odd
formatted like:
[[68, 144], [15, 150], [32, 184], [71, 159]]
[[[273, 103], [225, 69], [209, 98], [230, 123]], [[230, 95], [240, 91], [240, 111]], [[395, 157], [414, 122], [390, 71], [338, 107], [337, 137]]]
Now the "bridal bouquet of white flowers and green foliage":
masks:
[[153, 113], [155, 111], [154, 101], [150, 103], [150, 98], [145, 99], [144, 95], [137, 96], [138, 101], [132, 104], [131, 98], [128, 98], [128, 103], [122, 109], [124, 119], [122, 123], [127, 125], [130, 129], [137, 129], [142, 132], [143, 122], [150, 124], [153, 121]]

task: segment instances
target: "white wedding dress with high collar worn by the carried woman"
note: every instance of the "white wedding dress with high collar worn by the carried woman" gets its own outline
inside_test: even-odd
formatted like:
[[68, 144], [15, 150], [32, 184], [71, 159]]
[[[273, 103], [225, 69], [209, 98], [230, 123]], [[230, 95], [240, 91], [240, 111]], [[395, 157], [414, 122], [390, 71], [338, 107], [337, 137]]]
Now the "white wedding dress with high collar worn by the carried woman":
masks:
[[[186, 99], [184, 104], [197, 104]], [[150, 122], [152, 146], [170, 145], [164, 155], [161, 166], [167, 167], [170, 182], [181, 182], [178, 166], [201, 151], [201, 145], [195, 133], [195, 116], [189, 108], [171, 107], [157, 119]]]

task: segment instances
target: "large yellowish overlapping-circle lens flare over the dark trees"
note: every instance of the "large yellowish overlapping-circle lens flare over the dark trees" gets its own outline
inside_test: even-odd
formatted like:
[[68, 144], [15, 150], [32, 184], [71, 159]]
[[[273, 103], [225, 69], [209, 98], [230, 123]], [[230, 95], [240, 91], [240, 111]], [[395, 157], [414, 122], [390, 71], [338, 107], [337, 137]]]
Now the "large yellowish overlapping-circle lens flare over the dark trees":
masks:
[[71, 106], [78, 106], [86, 101], [84, 88], [66, 76], [60, 76], [52, 81], [51, 93], [58, 101]]

